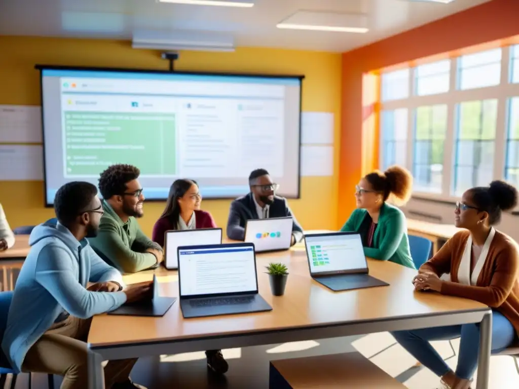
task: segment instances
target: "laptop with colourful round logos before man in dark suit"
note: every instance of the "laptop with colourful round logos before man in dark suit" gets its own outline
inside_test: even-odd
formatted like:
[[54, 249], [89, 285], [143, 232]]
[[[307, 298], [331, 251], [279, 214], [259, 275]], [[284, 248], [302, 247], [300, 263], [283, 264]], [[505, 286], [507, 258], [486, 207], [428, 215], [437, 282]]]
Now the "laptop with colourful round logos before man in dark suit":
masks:
[[254, 243], [256, 253], [288, 250], [293, 224], [291, 216], [247, 220], [245, 242]]

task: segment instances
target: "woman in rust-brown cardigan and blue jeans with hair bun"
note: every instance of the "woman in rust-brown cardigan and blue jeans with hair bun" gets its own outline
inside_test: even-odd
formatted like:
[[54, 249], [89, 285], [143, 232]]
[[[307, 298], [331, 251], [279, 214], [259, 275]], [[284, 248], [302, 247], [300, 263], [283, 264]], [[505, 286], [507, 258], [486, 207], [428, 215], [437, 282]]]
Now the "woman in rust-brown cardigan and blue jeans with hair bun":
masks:
[[[414, 277], [418, 291], [432, 290], [442, 295], [482, 302], [493, 310], [493, 353], [517, 341], [519, 334], [519, 249], [494, 225], [501, 212], [517, 204], [517, 190], [504, 182], [478, 187], [463, 193], [456, 203], [454, 224], [465, 228], [454, 235]], [[440, 276], [450, 273], [451, 281]], [[395, 339], [418, 361], [441, 377], [443, 388], [470, 387], [477, 366], [479, 325], [464, 324], [413, 331], [395, 331]], [[429, 341], [461, 337], [456, 372], [450, 370]]]

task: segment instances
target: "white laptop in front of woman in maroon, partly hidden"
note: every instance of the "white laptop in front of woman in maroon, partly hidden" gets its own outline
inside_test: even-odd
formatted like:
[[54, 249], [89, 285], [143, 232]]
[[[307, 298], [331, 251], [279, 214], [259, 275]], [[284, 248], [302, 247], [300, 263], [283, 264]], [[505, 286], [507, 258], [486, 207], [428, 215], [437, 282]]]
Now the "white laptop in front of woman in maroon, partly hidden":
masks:
[[204, 228], [198, 230], [170, 230], [164, 237], [164, 265], [168, 270], [179, 268], [179, 246], [222, 243], [221, 228]]

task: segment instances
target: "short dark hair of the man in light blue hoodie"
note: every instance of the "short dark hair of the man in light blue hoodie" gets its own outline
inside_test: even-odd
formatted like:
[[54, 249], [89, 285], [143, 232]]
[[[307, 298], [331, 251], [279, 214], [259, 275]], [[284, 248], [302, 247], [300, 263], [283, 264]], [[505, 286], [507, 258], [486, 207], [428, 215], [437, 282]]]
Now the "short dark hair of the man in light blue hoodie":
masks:
[[88, 206], [97, 195], [95, 185], [73, 181], [61, 186], [54, 197], [54, 212], [58, 221], [67, 226], [72, 223], [81, 212], [88, 211]]

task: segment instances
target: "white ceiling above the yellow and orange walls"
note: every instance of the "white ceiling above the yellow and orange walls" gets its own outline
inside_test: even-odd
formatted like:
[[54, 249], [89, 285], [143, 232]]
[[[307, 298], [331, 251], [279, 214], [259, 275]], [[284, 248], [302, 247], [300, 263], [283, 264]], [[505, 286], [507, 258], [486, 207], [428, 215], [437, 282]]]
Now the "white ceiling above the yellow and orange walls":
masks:
[[[256, 0], [252, 8], [155, 0], [0, 0], [0, 35], [131, 39], [139, 30], [225, 35], [235, 46], [347, 51], [490, 0]], [[366, 34], [280, 30], [298, 10], [367, 16]]]

